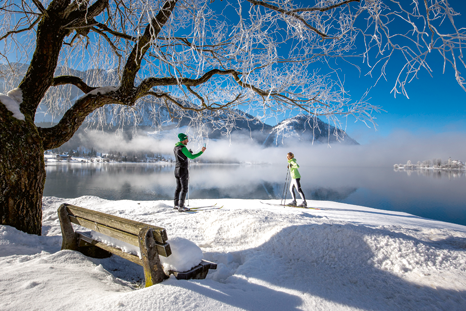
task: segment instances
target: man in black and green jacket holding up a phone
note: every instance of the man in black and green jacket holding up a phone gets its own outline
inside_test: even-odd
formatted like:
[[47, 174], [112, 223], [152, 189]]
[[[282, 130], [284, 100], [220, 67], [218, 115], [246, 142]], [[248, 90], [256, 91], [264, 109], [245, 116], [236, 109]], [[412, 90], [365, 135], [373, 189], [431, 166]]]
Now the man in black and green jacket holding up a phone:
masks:
[[[189, 182], [189, 170], [188, 170], [188, 158], [195, 159], [204, 153], [205, 147], [202, 147], [202, 151], [193, 154], [191, 150], [186, 148], [189, 142], [186, 134], [178, 134], [180, 141], [175, 144], [173, 152], [175, 153], [176, 166], [175, 166], [175, 178], [176, 178], [176, 190], [175, 190], [175, 201], [174, 208], [180, 212], [187, 211], [189, 208], [184, 206], [186, 200], [186, 194], [188, 193], [188, 182]], [[181, 197], [180, 197], [181, 194]]]

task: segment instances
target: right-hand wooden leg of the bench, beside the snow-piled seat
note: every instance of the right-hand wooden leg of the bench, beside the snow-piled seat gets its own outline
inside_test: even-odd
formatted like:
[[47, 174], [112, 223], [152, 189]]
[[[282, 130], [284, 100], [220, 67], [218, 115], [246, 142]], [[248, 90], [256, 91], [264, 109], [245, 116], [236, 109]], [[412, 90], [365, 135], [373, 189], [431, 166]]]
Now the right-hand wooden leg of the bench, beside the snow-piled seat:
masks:
[[159, 253], [157, 252], [152, 229], [148, 227], [142, 228], [139, 231], [138, 238], [146, 287], [149, 287], [162, 282], [166, 276], [163, 272]]

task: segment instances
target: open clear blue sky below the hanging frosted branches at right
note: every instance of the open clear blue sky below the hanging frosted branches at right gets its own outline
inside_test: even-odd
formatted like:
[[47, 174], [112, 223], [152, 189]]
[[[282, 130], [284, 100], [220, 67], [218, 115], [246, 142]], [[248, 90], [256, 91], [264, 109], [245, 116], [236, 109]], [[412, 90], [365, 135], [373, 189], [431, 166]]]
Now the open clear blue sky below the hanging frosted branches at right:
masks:
[[[466, 27], [466, 1], [449, 1], [461, 17], [455, 19], [457, 27]], [[409, 99], [398, 94], [395, 98], [391, 89], [394, 85], [392, 72], [388, 81], [379, 81], [371, 90], [372, 104], [382, 106], [386, 112], [375, 114], [377, 131], [367, 129], [361, 122], [352, 123], [349, 119], [347, 132], [361, 144], [389, 137], [397, 132], [407, 132], [414, 136], [428, 137], [440, 133], [466, 134], [466, 92], [455, 80], [449, 64], [443, 73], [443, 59], [433, 55], [430, 59], [432, 77], [422, 71], [419, 78], [407, 85]], [[365, 68], [367, 71], [367, 67]], [[460, 68], [466, 79], [465, 68]], [[363, 71], [364, 72], [364, 71]], [[367, 77], [359, 77], [355, 72], [345, 73], [347, 89], [353, 98], [359, 98], [367, 86], [374, 83]]]

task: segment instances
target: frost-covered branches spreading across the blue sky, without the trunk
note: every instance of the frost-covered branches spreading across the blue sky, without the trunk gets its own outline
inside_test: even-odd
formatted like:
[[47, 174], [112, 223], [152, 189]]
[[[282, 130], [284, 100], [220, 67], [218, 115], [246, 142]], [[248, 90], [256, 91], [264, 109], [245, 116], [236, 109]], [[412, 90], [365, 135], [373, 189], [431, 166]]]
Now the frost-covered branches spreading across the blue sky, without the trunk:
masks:
[[[158, 109], [169, 103], [170, 113], [194, 123], [193, 111], [203, 119], [206, 111], [241, 109], [259, 119], [303, 112], [335, 125], [346, 116], [371, 124], [380, 107], [349, 96], [342, 63], [373, 76], [374, 84], [395, 74], [394, 95], [408, 96], [410, 81], [434, 71], [432, 52], [466, 90], [466, 31], [446, 0], [56, 0], [48, 8], [36, 0], [6, 0], [1, 55], [8, 58], [19, 47], [27, 52], [23, 59], [32, 58], [34, 31], [51, 9], [61, 10], [68, 43], [50, 80], [55, 87], [40, 104], [57, 115], [74, 106], [77, 96], [66, 95], [70, 85], [84, 93], [117, 85], [121, 97], [113, 103], [121, 103], [122, 112], [146, 105], [151, 95]], [[13, 11], [22, 13], [20, 22]], [[29, 43], [18, 40], [24, 34]], [[102, 115], [96, 110], [89, 118]]]

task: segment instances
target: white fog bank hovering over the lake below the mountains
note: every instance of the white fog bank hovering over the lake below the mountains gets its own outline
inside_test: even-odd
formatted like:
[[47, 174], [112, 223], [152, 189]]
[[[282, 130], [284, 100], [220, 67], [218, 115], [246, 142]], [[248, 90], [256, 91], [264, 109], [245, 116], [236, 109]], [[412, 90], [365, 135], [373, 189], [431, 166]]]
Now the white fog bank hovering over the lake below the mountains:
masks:
[[[179, 129], [161, 133], [150, 133], [149, 136], [134, 135], [131, 139], [121, 133], [104, 133], [88, 131], [81, 134], [81, 141], [94, 146], [96, 150], [109, 152], [147, 152], [166, 155], [173, 154], [173, 147], [178, 142]], [[189, 133], [188, 133], [189, 135]], [[232, 135], [222, 140], [190, 135], [188, 148], [193, 152], [201, 149], [205, 143], [207, 150], [202, 159], [209, 161], [240, 162], [286, 162], [286, 154], [293, 152], [300, 165], [311, 166], [393, 166], [395, 163], [406, 163], [440, 158], [447, 160], [466, 159], [466, 134], [412, 134], [395, 132], [392, 135], [374, 140], [367, 145], [328, 145], [289, 141], [286, 147], [264, 148], [251, 137]]]

